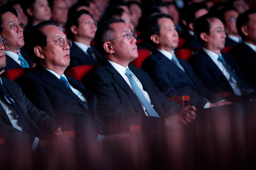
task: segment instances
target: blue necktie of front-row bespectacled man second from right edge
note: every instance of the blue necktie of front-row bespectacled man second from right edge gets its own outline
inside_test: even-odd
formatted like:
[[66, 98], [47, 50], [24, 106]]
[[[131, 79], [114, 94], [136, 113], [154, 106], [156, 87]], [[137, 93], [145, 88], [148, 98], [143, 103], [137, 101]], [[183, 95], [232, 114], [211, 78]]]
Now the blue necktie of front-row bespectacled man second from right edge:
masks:
[[220, 63], [222, 63], [222, 65], [225, 67], [225, 69], [228, 71], [228, 73], [230, 74], [230, 76], [232, 76], [237, 84], [247, 93], [247, 94], [250, 94], [250, 93], [254, 93], [254, 90], [249, 86], [247, 85], [246, 83], [244, 83], [243, 80], [241, 80], [237, 75], [236, 75], [236, 72], [234, 72], [231, 67], [228, 65], [228, 63], [226, 63], [226, 61], [224, 60], [224, 58], [219, 55], [218, 56], [218, 59], [217, 59]]

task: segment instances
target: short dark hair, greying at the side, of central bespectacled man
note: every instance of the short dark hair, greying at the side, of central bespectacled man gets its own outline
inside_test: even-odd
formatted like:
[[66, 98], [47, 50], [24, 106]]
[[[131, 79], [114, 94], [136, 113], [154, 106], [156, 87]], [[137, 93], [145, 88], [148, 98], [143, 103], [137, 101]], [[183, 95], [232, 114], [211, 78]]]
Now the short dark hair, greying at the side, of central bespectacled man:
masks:
[[95, 48], [97, 49], [97, 51], [100, 52], [101, 55], [106, 54], [106, 51], [103, 48], [103, 44], [106, 41], [115, 38], [114, 35], [116, 33], [116, 30], [113, 27], [111, 27], [111, 25], [114, 23], [124, 23], [124, 19], [122, 18], [110, 19], [100, 24], [97, 28], [97, 31], [94, 36], [94, 44], [95, 44]]

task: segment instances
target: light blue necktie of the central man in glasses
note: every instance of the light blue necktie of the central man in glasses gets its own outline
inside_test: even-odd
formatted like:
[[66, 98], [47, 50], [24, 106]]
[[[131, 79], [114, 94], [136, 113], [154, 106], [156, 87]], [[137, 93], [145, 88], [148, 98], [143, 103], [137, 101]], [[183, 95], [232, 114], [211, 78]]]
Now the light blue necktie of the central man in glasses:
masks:
[[137, 95], [137, 97], [140, 100], [140, 102], [142, 103], [142, 105], [146, 108], [146, 110], [148, 112], [148, 115], [155, 116], [155, 117], [160, 117], [156, 113], [155, 109], [148, 102], [146, 97], [143, 95], [143, 93], [141, 92], [139, 86], [137, 85], [137, 83], [135, 82], [135, 79], [133, 78], [132, 72], [128, 68], [125, 70], [125, 75], [128, 77], [128, 80], [129, 80], [129, 82], [132, 86], [132, 90]]

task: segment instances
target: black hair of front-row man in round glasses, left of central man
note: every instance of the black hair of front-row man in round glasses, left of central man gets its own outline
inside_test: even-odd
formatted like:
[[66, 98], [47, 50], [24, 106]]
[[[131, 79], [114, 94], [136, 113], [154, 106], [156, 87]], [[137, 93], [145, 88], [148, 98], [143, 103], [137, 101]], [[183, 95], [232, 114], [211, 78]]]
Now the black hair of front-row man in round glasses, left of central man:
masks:
[[33, 26], [25, 39], [27, 53], [36, 64], [38, 63], [39, 57], [36, 56], [34, 47], [45, 47], [47, 45], [47, 36], [43, 33], [42, 28], [48, 25], [58, 26], [58, 22], [53, 20], [40, 22], [36, 26]]

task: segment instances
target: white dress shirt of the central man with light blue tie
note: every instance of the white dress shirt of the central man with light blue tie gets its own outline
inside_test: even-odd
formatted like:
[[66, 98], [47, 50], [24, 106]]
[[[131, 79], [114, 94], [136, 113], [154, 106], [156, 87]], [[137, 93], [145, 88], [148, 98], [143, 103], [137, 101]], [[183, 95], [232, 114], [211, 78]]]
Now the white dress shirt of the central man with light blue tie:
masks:
[[[117, 63], [115, 63], [115, 62], [112, 62], [112, 61], [110, 61], [110, 60], [108, 60], [109, 61], [109, 63], [121, 74], [121, 76], [124, 78], [124, 80], [126, 81], [126, 83], [131, 87], [131, 89], [132, 89], [132, 86], [131, 86], [131, 84], [130, 84], [130, 82], [129, 82], [129, 79], [128, 79], [128, 77], [125, 75], [125, 70], [128, 68], [128, 66], [125, 68], [125, 67], [123, 67], [123, 66], [121, 66], [121, 65], [119, 65], [119, 64], [117, 64]], [[128, 68], [129, 69], [129, 68]], [[129, 69], [130, 70], [130, 69]], [[130, 70], [131, 71], [131, 70]], [[132, 73], [132, 71], [131, 71], [131, 73]], [[139, 81], [139, 79], [132, 73], [132, 75], [133, 75], [133, 78], [135, 79], [135, 82], [137, 83], [137, 85], [139, 86], [139, 88], [140, 88], [140, 91], [143, 93], [143, 95], [146, 97], [146, 99], [148, 100], [148, 102], [151, 104], [151, 106], [152, 107], [154, 107], [153, 106], [153, 104], [152, 104], [152, 102], [151, 102], [151, 100], [150, 100], [150, 98], [149, 98], [149, 95], [148, 95], [148, 93], [145, 91], [145, 90], [143, 90], [143, 86], [142, 86], [142, 84], [140, 83], [140, 81]], [[133, 90], [132, 90], [133, 91]], [[135, 93], [134, 93], [135, 94]], [[140, 103], [141, 104], [141, 103]], [[145, 112], [145, 114], [147, 115], [147, 116], [149, 116], [148, 115], [148, 112], [146, 111], [146, 109], [145, 109], [145, 107], [144, 106], [142, 106], [142, 108], [143, 108], [143, 110], [144, 110], [144, 112]]]

